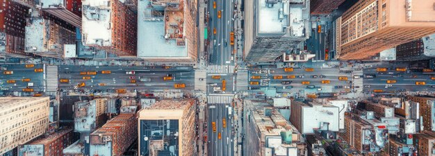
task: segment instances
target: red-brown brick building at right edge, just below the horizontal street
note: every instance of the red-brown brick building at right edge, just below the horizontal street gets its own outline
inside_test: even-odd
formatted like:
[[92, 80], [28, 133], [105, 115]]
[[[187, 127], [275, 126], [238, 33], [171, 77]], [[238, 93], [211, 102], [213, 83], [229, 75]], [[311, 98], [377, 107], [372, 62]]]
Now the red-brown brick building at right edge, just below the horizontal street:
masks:
[[435, 130], [435, 97], [433, 96], [407, 96], [407, 98], [418, 103], [419, 114], [422, 117], [422, 130]]

